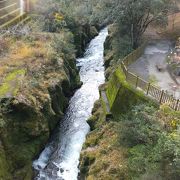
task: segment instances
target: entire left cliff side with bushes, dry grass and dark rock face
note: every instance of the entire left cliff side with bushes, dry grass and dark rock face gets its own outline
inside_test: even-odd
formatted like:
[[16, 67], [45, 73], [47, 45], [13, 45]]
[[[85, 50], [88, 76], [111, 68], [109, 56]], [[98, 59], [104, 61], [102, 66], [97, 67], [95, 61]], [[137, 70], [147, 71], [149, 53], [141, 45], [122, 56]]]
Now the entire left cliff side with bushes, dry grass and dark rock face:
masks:
[[3, 180], [32, 178], [33, 159], [81, 85], [75, 58], [98, 33], [98, 24], [80, 18], [74, 1], [69, 6], [55, 0], [38, 3], [31, 21], [2, 31], [0, 36]]

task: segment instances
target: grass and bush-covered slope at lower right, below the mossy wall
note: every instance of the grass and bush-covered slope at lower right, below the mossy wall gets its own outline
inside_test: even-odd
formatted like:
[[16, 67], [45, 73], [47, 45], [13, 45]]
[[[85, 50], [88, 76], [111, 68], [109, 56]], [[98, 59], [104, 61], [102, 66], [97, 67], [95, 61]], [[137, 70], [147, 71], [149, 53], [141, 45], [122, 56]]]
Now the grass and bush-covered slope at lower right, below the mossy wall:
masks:
[[179, 179], [179, 112], [144, 102], [107, 122], [94, 111], [81, 179]]

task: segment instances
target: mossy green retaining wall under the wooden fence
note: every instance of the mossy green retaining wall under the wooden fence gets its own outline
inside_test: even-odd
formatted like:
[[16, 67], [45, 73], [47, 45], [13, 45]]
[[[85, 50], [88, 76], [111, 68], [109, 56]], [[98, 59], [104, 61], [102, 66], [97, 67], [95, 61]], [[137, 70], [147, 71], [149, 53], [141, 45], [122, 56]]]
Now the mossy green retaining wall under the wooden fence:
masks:
[[135, 89], [126, 82], [120, 67], [112, 74], [107, 84], [106, 94], [114, 117], [129, 111], [136, 104], [149, 102], [158, 106], [143, 91]]

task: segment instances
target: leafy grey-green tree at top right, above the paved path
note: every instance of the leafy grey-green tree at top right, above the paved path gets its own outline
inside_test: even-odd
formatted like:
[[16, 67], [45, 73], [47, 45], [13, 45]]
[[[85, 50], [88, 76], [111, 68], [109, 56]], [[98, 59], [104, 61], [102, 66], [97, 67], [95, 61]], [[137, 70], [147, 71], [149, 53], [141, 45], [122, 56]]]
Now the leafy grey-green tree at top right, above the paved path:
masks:
[[122, 35], [130, 37], [132, 47], [137, 48], [143, 33], [152, 22], [167, 23], [172, 7], [169, 0], [121, 0], [116, 8], [117, 22]]

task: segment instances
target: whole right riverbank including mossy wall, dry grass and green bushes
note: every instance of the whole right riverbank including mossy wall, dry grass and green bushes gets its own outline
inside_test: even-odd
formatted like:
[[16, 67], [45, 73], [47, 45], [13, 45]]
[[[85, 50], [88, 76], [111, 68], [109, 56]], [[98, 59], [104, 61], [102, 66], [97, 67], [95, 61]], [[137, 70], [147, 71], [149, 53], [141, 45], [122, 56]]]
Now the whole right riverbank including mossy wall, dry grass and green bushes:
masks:
[[180, 112], [157, 106], [125, 81], [116, 68], [112, 30], [105, 43], [107, 81], [102, 86], [112, 115], [106, 116], [103, 99], [95, 104], [79, 179], [179, 179]]

